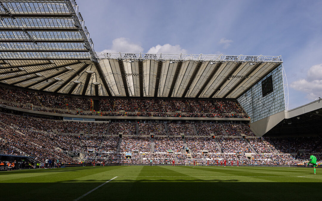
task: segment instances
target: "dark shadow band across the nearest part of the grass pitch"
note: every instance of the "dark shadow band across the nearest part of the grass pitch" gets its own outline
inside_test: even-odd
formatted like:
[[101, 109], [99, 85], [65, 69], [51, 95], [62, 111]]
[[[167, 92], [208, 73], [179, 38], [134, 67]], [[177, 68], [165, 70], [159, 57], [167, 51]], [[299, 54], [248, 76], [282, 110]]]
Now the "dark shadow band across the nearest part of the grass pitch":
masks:
[[[4, 192], [1, 199], [35, 200], [53, 196], [56, 200], [74, 200], [105, 181], [0, 183], [1, 192]], [[297, 200], [308, 192], [318, 193], [322, 188], [322, 182], [160, 181], [112, 180], [82, 200]]]

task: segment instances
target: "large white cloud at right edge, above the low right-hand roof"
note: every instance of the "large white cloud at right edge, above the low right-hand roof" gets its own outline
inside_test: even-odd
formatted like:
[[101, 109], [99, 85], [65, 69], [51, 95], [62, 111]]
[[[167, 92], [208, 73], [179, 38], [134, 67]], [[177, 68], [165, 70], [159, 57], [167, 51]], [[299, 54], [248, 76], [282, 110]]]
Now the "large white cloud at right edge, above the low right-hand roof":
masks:
[[299, 79], [290, 84], [290, 87], [307, 93], [306, 98], [315, 99], [322, 96], [322, 64], [314, 65], [308, 69], [305, 79]]

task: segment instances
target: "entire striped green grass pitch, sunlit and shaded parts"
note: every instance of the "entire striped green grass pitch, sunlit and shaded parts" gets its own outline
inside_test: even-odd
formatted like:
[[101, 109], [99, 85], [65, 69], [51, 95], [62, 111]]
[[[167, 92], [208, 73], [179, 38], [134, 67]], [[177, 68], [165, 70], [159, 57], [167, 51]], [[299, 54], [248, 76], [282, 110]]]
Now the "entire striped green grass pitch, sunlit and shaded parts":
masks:
[[313, 175], [313, 168], [281, 167], [26, 169], [0, 172], [0, 196], [3, 200], [306, 199], [315, 198], [322, 189], [320, 170]]

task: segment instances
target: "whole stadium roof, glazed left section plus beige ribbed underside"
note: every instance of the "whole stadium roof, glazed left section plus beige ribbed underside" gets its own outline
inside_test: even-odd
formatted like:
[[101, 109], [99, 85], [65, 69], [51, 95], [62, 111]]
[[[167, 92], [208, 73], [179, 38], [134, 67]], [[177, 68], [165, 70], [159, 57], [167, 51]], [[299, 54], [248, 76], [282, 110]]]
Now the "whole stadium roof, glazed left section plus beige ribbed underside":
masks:
[[0, 82], [91, 96], [237, 98], [281, 56], [95, 52], [76, 2], [5, 0]]

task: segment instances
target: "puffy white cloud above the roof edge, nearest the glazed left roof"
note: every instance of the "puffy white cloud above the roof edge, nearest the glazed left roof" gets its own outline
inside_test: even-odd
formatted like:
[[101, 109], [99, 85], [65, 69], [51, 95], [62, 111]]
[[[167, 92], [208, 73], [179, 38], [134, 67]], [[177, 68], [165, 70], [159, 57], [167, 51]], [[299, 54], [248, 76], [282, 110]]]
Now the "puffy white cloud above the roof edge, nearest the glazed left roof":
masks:
[[112, 41], [112, 47], [103, 52], [143, 52], [143, 47], [139, 44], [131, 42], [128, 38], [117, 38]]

